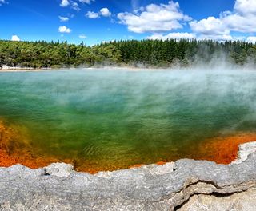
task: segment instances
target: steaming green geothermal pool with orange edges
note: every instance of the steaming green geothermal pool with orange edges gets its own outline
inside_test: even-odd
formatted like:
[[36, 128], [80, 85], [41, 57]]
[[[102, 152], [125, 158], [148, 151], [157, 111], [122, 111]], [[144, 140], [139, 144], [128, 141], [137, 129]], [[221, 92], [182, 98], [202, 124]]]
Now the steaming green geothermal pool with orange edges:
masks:
[[218, 161], [230, 142], [256, 140], [255, 82], [245, 70], [2, 72], [0, 120], [10, 130], [0, 139], [15, 135], [0, 157], [89, 172]]

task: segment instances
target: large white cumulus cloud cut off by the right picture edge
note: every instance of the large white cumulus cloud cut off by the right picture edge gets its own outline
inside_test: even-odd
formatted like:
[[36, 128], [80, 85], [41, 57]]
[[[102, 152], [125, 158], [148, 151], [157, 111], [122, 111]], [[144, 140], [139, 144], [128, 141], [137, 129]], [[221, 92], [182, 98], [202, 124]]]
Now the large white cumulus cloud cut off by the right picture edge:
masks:
[[190, 27], [199, 38], [232, 39], [232, 31], [256, 32], [256, 1], [236, 0], [232, 11], [222, 12], [218, 18], [190, 22]]

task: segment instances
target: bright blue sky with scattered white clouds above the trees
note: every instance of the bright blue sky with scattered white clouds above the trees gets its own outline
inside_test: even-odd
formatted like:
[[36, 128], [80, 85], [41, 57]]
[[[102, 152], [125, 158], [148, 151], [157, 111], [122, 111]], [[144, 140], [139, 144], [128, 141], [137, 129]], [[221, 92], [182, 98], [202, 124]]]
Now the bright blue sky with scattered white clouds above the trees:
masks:
[[0, 0], [0, 39], [256, 42], [256, 0]]

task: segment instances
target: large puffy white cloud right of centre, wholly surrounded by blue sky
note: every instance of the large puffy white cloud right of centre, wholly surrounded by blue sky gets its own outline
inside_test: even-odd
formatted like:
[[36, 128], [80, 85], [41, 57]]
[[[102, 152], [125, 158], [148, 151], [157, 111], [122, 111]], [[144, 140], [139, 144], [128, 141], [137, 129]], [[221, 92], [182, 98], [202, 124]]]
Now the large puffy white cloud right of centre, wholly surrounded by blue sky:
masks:
[[181, 22], [188, 22], [191, 18], [182, 13], [178, 2], [168, 4], [150, 4], [142, 7], [135, 14], [119, 13], [120, 23], [128, 26], [128, 30], [135, 33], [163, 32], [181, 29]]

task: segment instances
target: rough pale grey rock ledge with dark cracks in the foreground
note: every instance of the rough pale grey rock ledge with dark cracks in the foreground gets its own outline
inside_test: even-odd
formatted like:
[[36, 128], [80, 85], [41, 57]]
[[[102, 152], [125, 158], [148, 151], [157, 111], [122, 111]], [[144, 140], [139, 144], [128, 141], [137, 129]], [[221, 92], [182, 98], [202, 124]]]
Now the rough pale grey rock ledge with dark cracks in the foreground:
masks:
[[65, 164], [0, 168], [1, 210], [219, 210], [218, 201], [250, 210], [255, 189], [256, 153], [232, 165], [183, 159], [95, 175]]

